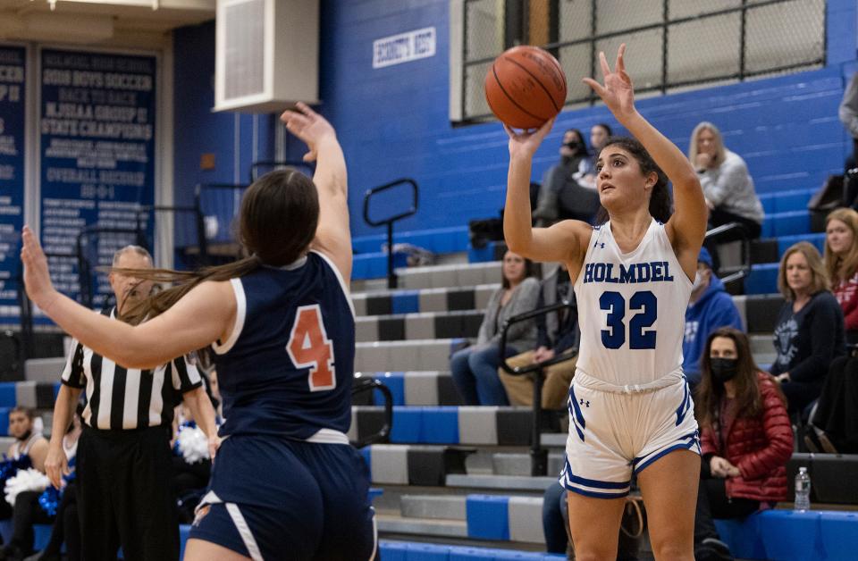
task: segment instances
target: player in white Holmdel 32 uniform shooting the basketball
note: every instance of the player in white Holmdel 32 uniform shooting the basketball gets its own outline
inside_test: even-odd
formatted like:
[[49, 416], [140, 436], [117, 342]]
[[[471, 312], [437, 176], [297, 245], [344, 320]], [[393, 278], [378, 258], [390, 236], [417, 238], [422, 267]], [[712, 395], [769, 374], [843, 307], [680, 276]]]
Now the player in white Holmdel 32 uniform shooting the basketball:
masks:
[[[635, 109], [625, 53], [620, 46], [613, 71], [600, 54], [603, 84], [584, 79], [634, 137], [610, 138], [598, 156], [607, 222], [531, 227], [531, 165], [551, 120], [522, 133], [505, 127], [503, 230], [510, 250], [567, 264], [575, 286], [582, 337], [560, 483], [569, 491], [576, 558], [616, 558], [635, 473], [655, 557], [691, 560], [700, 445], [682, 338], [707, 210], [685, 155]], [[676, 197], [672, 215], [668, 180]]]

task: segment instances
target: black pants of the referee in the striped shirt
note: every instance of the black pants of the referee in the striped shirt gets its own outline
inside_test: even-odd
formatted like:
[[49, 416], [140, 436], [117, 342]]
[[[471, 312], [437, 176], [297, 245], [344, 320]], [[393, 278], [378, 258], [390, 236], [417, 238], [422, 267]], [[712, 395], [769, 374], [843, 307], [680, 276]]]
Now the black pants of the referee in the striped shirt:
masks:
[[82, 557], [114, 561], [179, 559], [172, 497], [169, 428], [97, 431], [78, 444], [77, 486]]

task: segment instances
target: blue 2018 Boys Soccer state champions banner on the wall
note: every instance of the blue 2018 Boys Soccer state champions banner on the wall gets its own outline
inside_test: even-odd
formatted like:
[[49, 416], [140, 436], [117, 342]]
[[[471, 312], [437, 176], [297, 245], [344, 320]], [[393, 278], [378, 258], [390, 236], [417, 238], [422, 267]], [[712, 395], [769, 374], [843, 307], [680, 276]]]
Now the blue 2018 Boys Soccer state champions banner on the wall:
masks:
[[100, 307], [96, 267], [128, 244], [151, 251], [156, 58], [45, 49], [40, 70], [42, 244], [55, 287]]

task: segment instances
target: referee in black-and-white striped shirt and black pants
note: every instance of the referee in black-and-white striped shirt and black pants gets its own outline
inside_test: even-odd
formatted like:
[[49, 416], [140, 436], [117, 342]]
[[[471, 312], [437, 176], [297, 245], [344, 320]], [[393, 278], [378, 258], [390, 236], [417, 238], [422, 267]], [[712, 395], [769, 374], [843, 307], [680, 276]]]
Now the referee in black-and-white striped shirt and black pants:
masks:
[[[147, 269], [142, 247], [123, 247], [114, 268]], [[111, 317], [122, 317], [148, 296], [153, 283], [110, 273], [116, 296]], [[87, 561], [179, 559], [179, 523], [172, 496], [173, 408], [184, 402], [209, 442], [216, 441], [214, 409], [197, 367], [184, 357], [155, 370], [124, 368], [75, 341], [54, 406], [46, 459], [48, 477], [59, 487], [68, 473], [63, 436], [86, 388], [83, 434], [77, 454], [81, 554]], [[211, 446], [210, 446], [211, 448]]]

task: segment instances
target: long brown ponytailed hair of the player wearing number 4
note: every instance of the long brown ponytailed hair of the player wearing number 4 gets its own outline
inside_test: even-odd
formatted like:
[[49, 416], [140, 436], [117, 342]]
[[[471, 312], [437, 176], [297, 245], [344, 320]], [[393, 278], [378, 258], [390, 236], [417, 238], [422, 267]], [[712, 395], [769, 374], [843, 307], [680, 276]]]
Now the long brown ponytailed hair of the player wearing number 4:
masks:
[[262, 265], [279, 267], [299, 259], [315, 237], [319, 197], [313, 181], [294, 169], [266, 173], [241, 200], [238, 237], [249, 256], [230, 264], [195, 272], [169, 269], [115, 269], [138, 279], [174, 283], [142, 300], [122, 319], [139, 323], [163, 314], [181, 297], [206, 280], [230, 280], [256, 271]]

